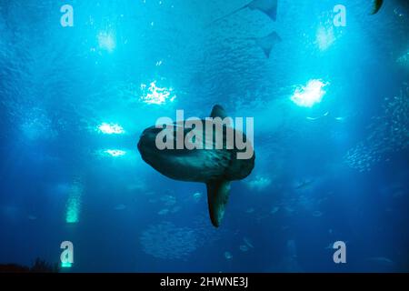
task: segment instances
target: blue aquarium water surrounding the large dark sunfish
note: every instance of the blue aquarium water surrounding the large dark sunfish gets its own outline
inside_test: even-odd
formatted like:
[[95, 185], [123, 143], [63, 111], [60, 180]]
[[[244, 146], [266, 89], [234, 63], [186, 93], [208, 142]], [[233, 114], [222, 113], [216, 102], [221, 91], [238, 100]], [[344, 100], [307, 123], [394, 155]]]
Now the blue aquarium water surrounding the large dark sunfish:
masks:
[[[338, 2], [212, 24], [246, 1], [0, 0], [0, 264], [59, 262], [71, 241], [75, 272], [409, 271], [409, 11], [344, 0], [338, 27]], [[267, 58], [254, 37], [273, 31]], [[321, 103], [296, 105], [311, 80]], [[204, 184], [136, 148], [215, 104], [254, 117], [256, 154], [218, 229]]]

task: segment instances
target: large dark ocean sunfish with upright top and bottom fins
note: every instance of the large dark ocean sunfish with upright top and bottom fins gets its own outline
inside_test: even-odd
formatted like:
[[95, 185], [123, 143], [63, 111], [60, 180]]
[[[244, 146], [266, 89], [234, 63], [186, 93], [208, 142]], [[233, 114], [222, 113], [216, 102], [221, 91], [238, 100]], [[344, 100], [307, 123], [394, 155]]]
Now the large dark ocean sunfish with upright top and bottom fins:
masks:
[[[222, 106], [215, 105], [211, 117], [224, 119], [227, 115]], [[185, 136], [192, 132], [193, 129], [185, 128], [185, 121], [182, 123], [174, 123], [173, 126], [184, 129], [183, 138], [185, 140]], [[202, 124], [205, 124], [204, 120], [202, 120]], [[217, 128], [217, 126], [214, 127]], [[156, 136], [163, 129], [155, 126], [145, 129], [138, 143], [138, 150], [144, 161], [162, 175], [179, 181], [206, 184], [210, 218], [215, 227], [220, 226], [223, 219], [224, 209], [230, 194], [231, 181], [241, 180], [249, 176], [254, 169], [255, 160], [253, 146], [251, 147], [253, 151], [251, 158], [238, 159], [237, 153], [244, 151], [238, 150], [235, 146], [233, 149], [228, 149], [225, 146], [227, 127], [223, 125], [222, 128], [223, 149], [215, 149], [214, 138], [211, 139], [213, 149], [205, 149], [205, 139], [208, 137], [204, 136], [201, 139], [200, 135], [196, 135], [195, 137], [199, 138], [200, 143], [204, 145], [204, 149], [160, 150], [156, 146]], [[230, 129], [234, 131], [234, 136], [236, 136], [238, 131], [232, 127]], [[214, 130], [214, 135], [216, 133], [217, 129]], [[242, 134], [241, 132], [238, 133]], [[173, 142], [176, 142], [176, 144], [178, 136], [176, 133], [174, 134]], [[246, 138], [245, 135], [244, 138]]]

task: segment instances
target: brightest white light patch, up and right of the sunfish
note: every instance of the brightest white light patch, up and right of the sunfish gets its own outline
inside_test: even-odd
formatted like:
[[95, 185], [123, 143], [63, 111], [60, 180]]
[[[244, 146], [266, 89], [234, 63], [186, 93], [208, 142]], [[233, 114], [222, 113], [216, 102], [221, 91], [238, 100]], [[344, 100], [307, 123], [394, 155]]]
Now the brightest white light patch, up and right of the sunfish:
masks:
[[325, 95], [324, 87], [329, 85], [321, 80], [310, 80], [307, 85], [295, 89], [291, 100], [300, 107], [313, 107], [320, 103]]

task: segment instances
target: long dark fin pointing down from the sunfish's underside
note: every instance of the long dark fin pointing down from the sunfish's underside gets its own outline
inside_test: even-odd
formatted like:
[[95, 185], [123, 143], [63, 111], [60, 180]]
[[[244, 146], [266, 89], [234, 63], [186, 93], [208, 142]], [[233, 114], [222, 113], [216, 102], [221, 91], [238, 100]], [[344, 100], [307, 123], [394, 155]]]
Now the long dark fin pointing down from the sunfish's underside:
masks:
[[230, 195], [230, 181], [215, 180], [206, 183], [207, 203], [212, 224], [219, 227]]

